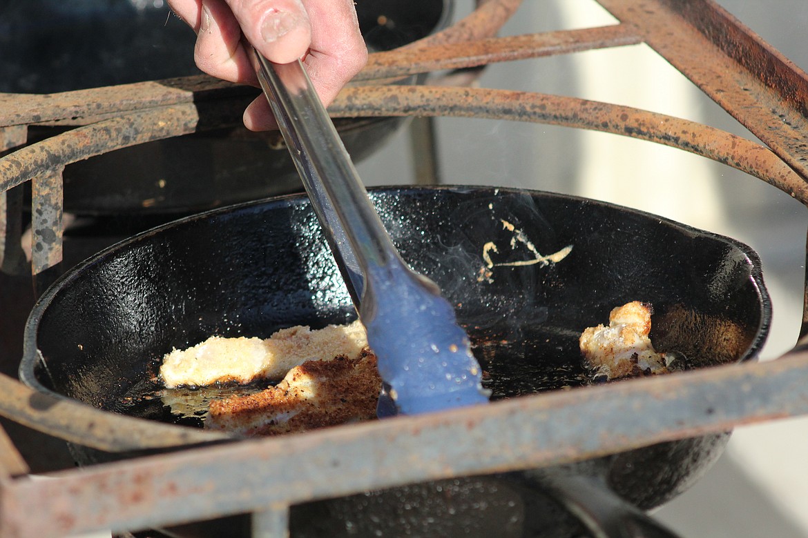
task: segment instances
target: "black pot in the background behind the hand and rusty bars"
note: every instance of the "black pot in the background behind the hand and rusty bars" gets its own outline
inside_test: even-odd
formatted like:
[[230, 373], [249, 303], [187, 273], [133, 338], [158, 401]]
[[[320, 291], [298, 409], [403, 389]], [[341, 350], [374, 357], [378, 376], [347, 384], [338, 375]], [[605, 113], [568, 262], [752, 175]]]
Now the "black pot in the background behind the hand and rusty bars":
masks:
[[[0, 6], [0, 92], [65, 90], [182, 77], [196, 35], [163, 0], [10, 0]], [[453, 0], [357, 0], [368, 48], [389, 50], [442, 29]], [[407, 83], [415, 82], [411, 78]], [[338, 122], [360, 161], [406, 119]], [[33, 129], [50, 136], [53, 129]], [[302, 190], [276, 134], [242, 126], [124, 148], [65, 169], [65, 211], [180, 214]]]

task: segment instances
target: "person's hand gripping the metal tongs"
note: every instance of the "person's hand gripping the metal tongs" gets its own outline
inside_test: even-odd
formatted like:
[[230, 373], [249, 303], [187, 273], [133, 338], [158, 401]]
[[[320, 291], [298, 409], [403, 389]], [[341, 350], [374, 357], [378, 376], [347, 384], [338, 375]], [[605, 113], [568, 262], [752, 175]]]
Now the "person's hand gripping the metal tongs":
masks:
[[[368, 58], [353, 0], [168, 0], [196, 31], [194, 60], [205, 73], [258, 85], [242, 33], [267, 60], [303, 59], [324, 105], [328, 105]], [[251, 131], [276, 127], [261, 96], [244, 111]]]

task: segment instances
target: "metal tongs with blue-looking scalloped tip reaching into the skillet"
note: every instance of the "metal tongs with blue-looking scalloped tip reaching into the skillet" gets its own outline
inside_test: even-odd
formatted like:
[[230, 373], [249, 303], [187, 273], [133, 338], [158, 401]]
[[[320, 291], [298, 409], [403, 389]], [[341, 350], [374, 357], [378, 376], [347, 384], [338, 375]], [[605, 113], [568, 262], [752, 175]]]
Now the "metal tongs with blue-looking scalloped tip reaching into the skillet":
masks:
[[414, 415], [488, 401], [469, 338], [434, 282], [393, 245], [300, 60], [253, 49], [264, 94], [378, 357], [377, 414]]

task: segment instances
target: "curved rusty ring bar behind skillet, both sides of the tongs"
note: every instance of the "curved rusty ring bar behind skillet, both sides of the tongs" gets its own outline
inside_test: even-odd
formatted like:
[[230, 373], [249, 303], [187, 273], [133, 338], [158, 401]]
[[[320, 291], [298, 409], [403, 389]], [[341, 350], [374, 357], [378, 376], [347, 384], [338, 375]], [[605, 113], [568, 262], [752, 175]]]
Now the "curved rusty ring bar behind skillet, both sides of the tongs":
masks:
[[[216, 102], [215, 106], [227, 103]], [[208, 114], [210, 124], [229, 117]], [[684, 119], [631, 107], [576, 98], [467, 88], [379, 86], [343, 90], [330, 107], [333, 115], [453, 115], [500, 118], [607, 131], [681, 148], [751, 173], [806, 203], [808, 186], [788, 166], [760, 144]], [[193, 104], [166, 106], [108, 119], [54, 136], [0, 159], [0, 190], [32, 180], [43, 169], [57, 170], [71, 162], [103, 152], [196, 131], [200, 111]], [[215, 119], [210, 119], [215, 118]], [[56, 172], [54, 172], [56, 173]], [[54, 187], [50, 194], [59, 196]], [[52, 197], [53, 198], [53, 197]], [[43, 202], [45, 203], [45, 202]], [[49, 204], [49, 205], [48, 205]], [[53, 200], [46, 203], [53, 206]], [[61, 229], [61, 228], [60, 228]], [[40, 240], [47, 247], [47, 241]], [[37, 272], [53, 265], [61, 253], [46, 248], [36, 262]]]

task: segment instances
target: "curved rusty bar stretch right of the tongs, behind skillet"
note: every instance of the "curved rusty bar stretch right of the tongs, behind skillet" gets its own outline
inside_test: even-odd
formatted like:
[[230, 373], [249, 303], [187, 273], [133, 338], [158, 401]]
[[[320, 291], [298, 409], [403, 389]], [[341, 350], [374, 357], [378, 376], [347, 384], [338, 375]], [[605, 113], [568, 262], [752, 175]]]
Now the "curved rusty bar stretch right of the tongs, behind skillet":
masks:
[[684, 149], [739, 169], [808, 203], [808, 185], [771, 150], [701, 123], [630, 106], [511, 90], [367, 86], [343, 90], [335, 116], [440, 115], [549, 123]]

